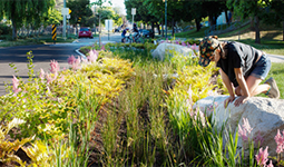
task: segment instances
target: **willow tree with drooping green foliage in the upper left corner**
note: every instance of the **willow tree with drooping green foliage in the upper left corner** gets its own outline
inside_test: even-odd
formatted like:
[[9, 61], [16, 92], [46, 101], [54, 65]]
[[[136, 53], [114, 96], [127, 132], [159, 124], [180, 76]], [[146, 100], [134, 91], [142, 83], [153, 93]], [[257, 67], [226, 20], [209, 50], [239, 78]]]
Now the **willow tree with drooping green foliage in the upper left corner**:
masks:
[[12, 39], [17, 39], [17, 28], [23, 22], [38, 27], [55, 6], [55, 0], [0, 0], [0, 18], [12, 21]]

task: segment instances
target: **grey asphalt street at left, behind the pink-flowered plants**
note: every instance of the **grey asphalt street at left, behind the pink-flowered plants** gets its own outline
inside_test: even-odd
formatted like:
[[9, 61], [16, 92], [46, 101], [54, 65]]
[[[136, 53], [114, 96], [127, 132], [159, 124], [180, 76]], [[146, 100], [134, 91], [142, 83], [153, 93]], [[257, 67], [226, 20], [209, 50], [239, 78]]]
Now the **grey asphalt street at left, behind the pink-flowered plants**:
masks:
[[[102, 43], [106, 42], [118, 42], [121, 39], [120, 33], [110, 33], [110, 40], [108, 40], [108, 35], [101, 37]], [[98, 42], [99, 38], [94, 39], [78, 39], [72, 43], [56, 43], [56, 45], [37, 45], [37, 46], [20, 46], [20, 47], [8, 47], [0, 48], [0, 96], [6, 95], [4, 84], [11, 85], [12, 76], [19, 76], [25, 81], [28, 80], [29, 69], [27, 67], [28, 59], [26, 53], [32, 51], [33, 55], [33, 70], [35, 73], [40, 71], [42, 68], [45, 71], [50, 69], [50, 60], [56, 60], [60, 65], [60, 69], [68, 68], [67, 58], [69, 56], [78, 57], [76, 52], [82, 46], [90, 46], [94, 42]], [[13, 63], [19, 70], [18, 73], [9, 66]]]

